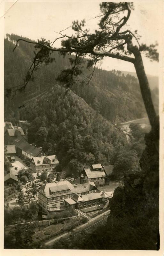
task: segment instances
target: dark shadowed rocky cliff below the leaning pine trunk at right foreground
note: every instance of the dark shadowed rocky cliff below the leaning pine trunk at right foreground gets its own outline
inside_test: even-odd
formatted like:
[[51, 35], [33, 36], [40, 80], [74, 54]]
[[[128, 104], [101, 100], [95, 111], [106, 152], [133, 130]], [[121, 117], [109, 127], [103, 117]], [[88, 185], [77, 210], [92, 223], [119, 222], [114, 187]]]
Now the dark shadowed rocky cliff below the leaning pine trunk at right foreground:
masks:
[[[145, 136], [141, 172], [124, 173], [124, 186], [115, 189], [108, 227], [122, 221], [127, 249], [158, 250], [159, 242], [159, 126]], [[126, 223], [126, 225], [125, 225]], [[122, 231], [122, 230], [121, 230]], [[131, 233], [130, 233], [131, 232]], [[119, 230], [118, 230], [119, 233]], [[130, 243], [129, 243], [130, 239]]]

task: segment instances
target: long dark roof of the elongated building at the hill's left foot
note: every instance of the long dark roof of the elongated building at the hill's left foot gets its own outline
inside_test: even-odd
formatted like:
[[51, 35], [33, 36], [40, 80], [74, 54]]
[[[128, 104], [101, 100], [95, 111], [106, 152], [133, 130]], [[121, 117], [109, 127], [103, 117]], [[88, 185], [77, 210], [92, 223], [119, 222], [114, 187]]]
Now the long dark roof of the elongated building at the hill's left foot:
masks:
[[25, 140], [24, 138], [16, 138], [12, 144], [14, 144], [16, 146], [16, 148], [20, 148], [21, 150], [25, 151], [27, 154], [31, 155], [31, 156], [38, 156], [39, 153], [41, 152], [39, 148], [30, 145], [27, 140]]

